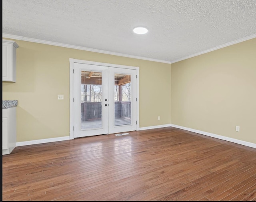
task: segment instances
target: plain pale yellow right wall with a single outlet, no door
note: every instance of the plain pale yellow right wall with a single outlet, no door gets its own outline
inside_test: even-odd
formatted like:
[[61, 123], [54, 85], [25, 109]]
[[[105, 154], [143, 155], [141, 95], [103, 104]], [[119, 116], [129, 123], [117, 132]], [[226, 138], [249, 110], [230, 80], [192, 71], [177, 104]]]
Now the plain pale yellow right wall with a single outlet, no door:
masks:
[[171, 64], [171, 86], [172, 124], [256, 143], [256, 38]]

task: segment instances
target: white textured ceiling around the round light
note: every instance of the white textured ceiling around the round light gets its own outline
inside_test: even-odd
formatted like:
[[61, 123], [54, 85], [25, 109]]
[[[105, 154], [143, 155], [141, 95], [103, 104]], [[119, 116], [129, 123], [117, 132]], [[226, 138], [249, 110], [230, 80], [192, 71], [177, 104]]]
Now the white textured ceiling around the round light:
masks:
[[256, 0], [2, 0], [2, 33], [174, 62], [254, 38]]

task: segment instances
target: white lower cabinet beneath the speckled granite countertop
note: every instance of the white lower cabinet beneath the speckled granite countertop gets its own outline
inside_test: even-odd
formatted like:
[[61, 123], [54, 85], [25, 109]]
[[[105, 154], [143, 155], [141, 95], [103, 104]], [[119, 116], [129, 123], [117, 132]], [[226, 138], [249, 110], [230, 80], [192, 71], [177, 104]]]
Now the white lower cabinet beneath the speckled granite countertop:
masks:
[[10, 154], [16, 147], [16, 107], [2, 111], [2, 154]]

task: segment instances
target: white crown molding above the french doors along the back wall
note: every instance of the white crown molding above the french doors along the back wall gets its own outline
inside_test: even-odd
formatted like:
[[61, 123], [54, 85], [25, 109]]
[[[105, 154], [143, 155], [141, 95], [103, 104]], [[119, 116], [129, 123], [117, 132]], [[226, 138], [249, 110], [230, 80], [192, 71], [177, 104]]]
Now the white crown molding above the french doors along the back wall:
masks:
[[149, 60], [149, 61], [153, 61], [153, 62], [162, 62], [162, 63], [171, 64], [170, 61], [166, 61], [166, 60], [157, 60], [157, 59], [153, 59], [153, 58], [133, 56], [133, 55], [110, 52], [110, 51], [105, 51], [105, 50], [98, 50], [98, 49], [94, 49], [94, 48], [86, 48], [86, 47], [82, 47], [82, 46], [72, 46], [72, 45], [69, 45], [69, 44], [62, 44], [62, 43], [58, 43], [58, 42], [39, 40], [39, 39], [35, 39], [35, 38], [27, 38], [27, 37], [24, 37], [24, 36], [16, 36], [16, 35], [12, 35], [12, 34], [4, 34], [3, 33], [2, 37], [3, 38], [11, 38], [11, 39], [16, 39], [16, 40], [21, 40], [21, 41], [35, 42], [35, 43], [40, 43], [40, 44], [48, 44], [48, 45], [52, 45], [52, 46], [60, 46], [60, 47], [65, 47], [65, 48], [86, 50], [86, 51], [90, 51], [90, 52], [97, 52], [97, 53], [103, 53], [103, 54], [109, 54], [109, 55], [115, 55], [115, 56], [122, 56], [122, 57], [126, 57], [126, 58], [135, 58], [135, 59], [140, 59], [140, 60]]

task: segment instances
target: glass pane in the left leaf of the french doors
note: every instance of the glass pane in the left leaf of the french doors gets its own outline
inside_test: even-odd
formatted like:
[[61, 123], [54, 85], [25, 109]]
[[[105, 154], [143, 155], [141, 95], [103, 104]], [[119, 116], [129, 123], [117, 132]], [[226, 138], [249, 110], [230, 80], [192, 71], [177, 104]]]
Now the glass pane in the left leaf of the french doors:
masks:
[[81, 71], [81, 130], [102, 128], [102, 72]]

